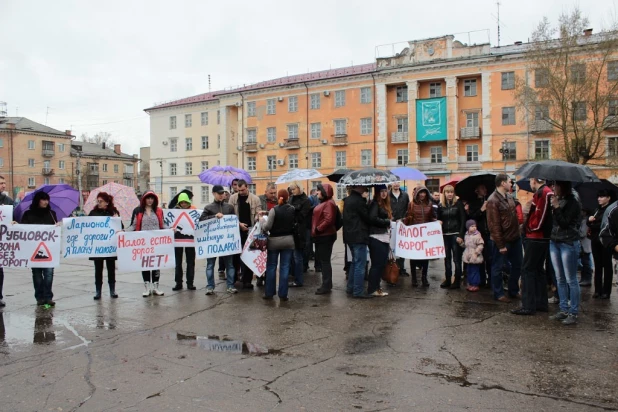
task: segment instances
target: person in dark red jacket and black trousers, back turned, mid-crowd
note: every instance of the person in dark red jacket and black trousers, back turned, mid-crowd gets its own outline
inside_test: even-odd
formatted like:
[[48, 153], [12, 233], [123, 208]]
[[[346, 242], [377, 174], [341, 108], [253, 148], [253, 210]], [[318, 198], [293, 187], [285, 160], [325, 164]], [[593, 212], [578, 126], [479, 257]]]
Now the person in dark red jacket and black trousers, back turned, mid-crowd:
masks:
[[328, 183], [318, 185], [320, 203], [313, 209], [311, 217], [311, 237], [315, 244], [315, 260], [322, 266], [322, 285], [316, 295], [330, 293], [333, 288], [333, 267], [331, 256], [333, 244], [337, 240], [337, 205], [333, 201], [333, 188]]

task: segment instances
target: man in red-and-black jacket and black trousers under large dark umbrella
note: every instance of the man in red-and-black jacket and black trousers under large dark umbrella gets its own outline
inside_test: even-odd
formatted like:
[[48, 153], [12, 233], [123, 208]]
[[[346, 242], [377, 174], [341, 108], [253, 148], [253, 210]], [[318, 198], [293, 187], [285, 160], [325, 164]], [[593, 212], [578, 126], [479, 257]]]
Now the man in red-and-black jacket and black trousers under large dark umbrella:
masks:
[[524, 262], [521, 276], [521, 307], [513, 309], [514, 315], [534, 315], [547, 312], [547, 280], [543, 270], [549, 251], [552, 219], [550, 200], [552, 190], [541, 179], [530, 179], [534, 191], [528, 219], [524, 222]]

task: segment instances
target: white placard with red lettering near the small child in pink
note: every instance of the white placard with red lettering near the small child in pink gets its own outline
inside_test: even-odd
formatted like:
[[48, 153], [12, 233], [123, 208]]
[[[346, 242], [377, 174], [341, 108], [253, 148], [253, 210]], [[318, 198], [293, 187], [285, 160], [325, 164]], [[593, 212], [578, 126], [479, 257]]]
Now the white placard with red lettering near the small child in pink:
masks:
[[439, 222], [406, 226], [397, 222], [395, 256], [405, 259], [439, 259], [445, 256], [442, 226]]

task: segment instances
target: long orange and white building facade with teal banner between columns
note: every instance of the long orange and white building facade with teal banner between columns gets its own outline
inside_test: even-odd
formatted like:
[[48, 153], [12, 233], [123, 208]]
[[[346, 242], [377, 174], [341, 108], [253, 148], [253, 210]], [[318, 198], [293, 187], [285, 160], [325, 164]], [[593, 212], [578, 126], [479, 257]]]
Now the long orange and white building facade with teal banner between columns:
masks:
[[[526, 161], [552, 158], [559, 143], [542, 113], [531, 116], [516, 103], [516, 79], [534, 81], [528, 47], [465, 45], [453, 36], [411, 41], [400, 53], [375, 63], [155, 106], [146, 110], [153, 159], [187, 161], [182, 144], [171, 152], [166, 140], [182, 143], [191, 128], [186, 116], [208, 110], [219, 116], [212, 131], [204, 133], [221, 136], [215, 152], [208, 153], [220, 164], [249, 171], [258, 194], [293, 168], [326, 175], [344, 167], [410, 166], [428, 176], [430, 190], [480, 170], [512, 173]], [[175, 129], [172, 118], [177, 119]], [[179, 133], [182, 119], [185, 128]], [[615, 157], [618, 135], [612, 129], [604, 132], [604, 144]], [[611, 167], [595, 171], [600, 177], [613, 173]], [[184, 185], [199, 185], [195, 173], [183, 176], [177, 168], [169, 184], [165, 173], [164, 168], [164, 183], [158, 187], [164, 197]], [[337, 197], [342, 195], [339, 188]]]

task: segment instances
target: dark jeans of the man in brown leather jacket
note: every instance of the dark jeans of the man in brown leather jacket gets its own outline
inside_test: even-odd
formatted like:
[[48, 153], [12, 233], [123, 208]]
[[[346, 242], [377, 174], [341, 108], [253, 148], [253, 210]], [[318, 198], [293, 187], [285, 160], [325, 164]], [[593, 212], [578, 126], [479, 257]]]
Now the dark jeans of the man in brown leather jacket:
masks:
[[506, 259], [511, 264], [509, 275], [509, 295], [515, 296], [519, 293], [519, 277], [521, 275], [521, 263], [523, 260], [523, 250], [521, 238], [506, 243], [506, 254], [500, 253], [498, 246], [493, 240], [489, 240], [491, 247], [491, 288], [494, 292], [494, 299], [504, 296], [504, 286], [502, 286], [502, 267]]

